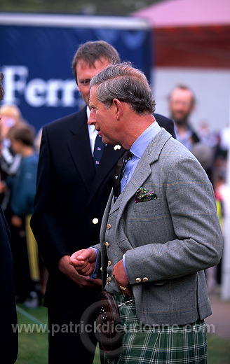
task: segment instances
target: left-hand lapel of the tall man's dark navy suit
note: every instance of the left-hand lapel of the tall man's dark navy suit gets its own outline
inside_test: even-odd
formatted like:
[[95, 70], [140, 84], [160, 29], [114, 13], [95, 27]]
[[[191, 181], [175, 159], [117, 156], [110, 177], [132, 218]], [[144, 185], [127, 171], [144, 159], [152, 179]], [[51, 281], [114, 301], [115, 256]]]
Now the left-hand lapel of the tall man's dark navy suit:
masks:
[[67, 142], [69, 152], [72, 155], [74, 165], [76, 166], [88, 193], [90, 193], [95, 176], [95, 169], [90, 148], [90, 139], [88, 136], [86, 108], [83, 108], [79, 113], [76, 113], [72, 128], [69, 132], [71, 135]]

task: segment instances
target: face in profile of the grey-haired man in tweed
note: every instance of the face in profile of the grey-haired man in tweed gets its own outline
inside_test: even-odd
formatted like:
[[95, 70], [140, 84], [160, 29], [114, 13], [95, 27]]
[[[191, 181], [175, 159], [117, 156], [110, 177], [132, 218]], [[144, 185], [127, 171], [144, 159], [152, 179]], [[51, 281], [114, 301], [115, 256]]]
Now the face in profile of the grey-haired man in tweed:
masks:
[[116, 120], [116, 106], [112, 104], [106, 109], [102, 102], [98, 101], [97, 86], [90, 90], [90, 117], [89, 125], [94, 125], [104, 144], [119, 144], [119, 122]]

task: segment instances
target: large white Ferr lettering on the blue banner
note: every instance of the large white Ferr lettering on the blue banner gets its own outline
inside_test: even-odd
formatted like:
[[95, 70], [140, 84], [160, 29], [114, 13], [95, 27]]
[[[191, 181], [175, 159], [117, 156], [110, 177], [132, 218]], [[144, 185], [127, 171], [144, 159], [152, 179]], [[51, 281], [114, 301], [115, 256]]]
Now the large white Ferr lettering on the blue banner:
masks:
[[74, 80], [34, 78], [27, 82], [27, 66], [4, 66], [4, 88], [6, 104], [20, 104], [20, 97], [32, 107], [74, 107], [77, 87]]

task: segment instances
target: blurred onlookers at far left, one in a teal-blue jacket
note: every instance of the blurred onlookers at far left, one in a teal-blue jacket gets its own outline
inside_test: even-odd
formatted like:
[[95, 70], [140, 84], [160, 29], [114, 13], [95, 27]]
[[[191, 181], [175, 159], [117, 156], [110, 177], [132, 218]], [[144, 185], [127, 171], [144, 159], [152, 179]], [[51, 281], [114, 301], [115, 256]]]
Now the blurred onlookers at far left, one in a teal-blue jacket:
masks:
[[5, 104], [0, 115], [0, 201], [11, 230], [16, 301], [34, 308], [41, 304], [47, 275], [29, 226], [40, 134], [22, 118], [18, 106]]

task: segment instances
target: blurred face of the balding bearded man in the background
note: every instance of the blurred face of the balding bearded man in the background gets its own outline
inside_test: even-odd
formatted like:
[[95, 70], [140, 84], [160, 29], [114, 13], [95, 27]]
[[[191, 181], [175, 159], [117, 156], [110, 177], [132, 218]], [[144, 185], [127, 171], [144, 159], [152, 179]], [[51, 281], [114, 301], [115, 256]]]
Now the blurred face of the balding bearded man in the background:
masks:
[[170, 95], [169, 109], [170, 116], [176, 125], [187, 124], [187, 119], [194, 109], [191, 92], [179, 88], [173, 90]]

